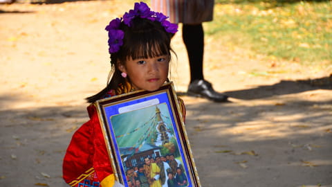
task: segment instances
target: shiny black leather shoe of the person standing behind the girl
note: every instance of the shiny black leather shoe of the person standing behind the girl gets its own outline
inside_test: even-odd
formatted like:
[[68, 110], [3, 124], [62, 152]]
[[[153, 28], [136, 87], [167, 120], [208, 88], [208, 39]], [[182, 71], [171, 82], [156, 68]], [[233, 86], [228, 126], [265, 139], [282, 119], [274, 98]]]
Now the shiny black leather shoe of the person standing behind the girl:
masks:
[[187, 94], [189, 96], [196, 96], [207, 98], [214, 102], [226, 102], [228, 96], [214, 91], [212, 84], [206, 80], [194, 80], [188, 87]]

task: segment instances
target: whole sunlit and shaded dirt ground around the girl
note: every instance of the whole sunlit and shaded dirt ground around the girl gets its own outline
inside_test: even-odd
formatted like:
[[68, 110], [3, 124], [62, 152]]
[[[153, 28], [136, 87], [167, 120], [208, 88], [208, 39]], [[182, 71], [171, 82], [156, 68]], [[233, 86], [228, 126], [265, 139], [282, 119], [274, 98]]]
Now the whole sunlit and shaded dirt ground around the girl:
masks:
[[[62, 159], [106, 84], [107, 33], [129, 1], [0, 5], [0, 186], [66, 186]], [[180, 27], [181, 28], [181, 27]], [[226, 36], [227, 37], [227, 36]], [[230, 96], [185, 96], [181, 32], [171, 80], [201, 185], [332, 186], [332, 67], [273, 62], [205, 38], [205, 78]]]

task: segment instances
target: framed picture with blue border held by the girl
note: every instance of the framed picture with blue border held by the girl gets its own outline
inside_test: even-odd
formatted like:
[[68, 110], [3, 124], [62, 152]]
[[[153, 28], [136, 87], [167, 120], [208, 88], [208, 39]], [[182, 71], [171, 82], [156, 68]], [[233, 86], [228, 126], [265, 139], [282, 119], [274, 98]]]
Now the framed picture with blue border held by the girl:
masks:
[[156, 91], [133, 91], [95, 105], [121, 184], [201, 186], [172, 82]]

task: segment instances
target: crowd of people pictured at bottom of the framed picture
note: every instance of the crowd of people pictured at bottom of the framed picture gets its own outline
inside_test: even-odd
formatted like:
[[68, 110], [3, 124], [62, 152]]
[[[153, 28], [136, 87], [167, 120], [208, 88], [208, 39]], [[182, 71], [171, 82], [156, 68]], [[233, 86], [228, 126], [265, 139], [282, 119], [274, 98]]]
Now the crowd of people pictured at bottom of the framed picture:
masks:
[[188, 184], [183, 164], [174, 154], [145, 157], [144, 162], [126, 170], [129, 187], [185, 187]]

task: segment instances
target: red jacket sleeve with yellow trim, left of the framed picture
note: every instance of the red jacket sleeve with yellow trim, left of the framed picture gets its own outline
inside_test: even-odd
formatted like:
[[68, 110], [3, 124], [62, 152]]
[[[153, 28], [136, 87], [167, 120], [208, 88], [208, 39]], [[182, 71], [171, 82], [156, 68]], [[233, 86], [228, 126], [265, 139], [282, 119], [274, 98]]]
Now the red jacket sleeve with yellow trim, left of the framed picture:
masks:
[[87, 109], [90, 120], [73, 134], [64, 157], [64, 180], [71, 186], [113, 186], [115, 178], [97, 111], [94, 105]]

